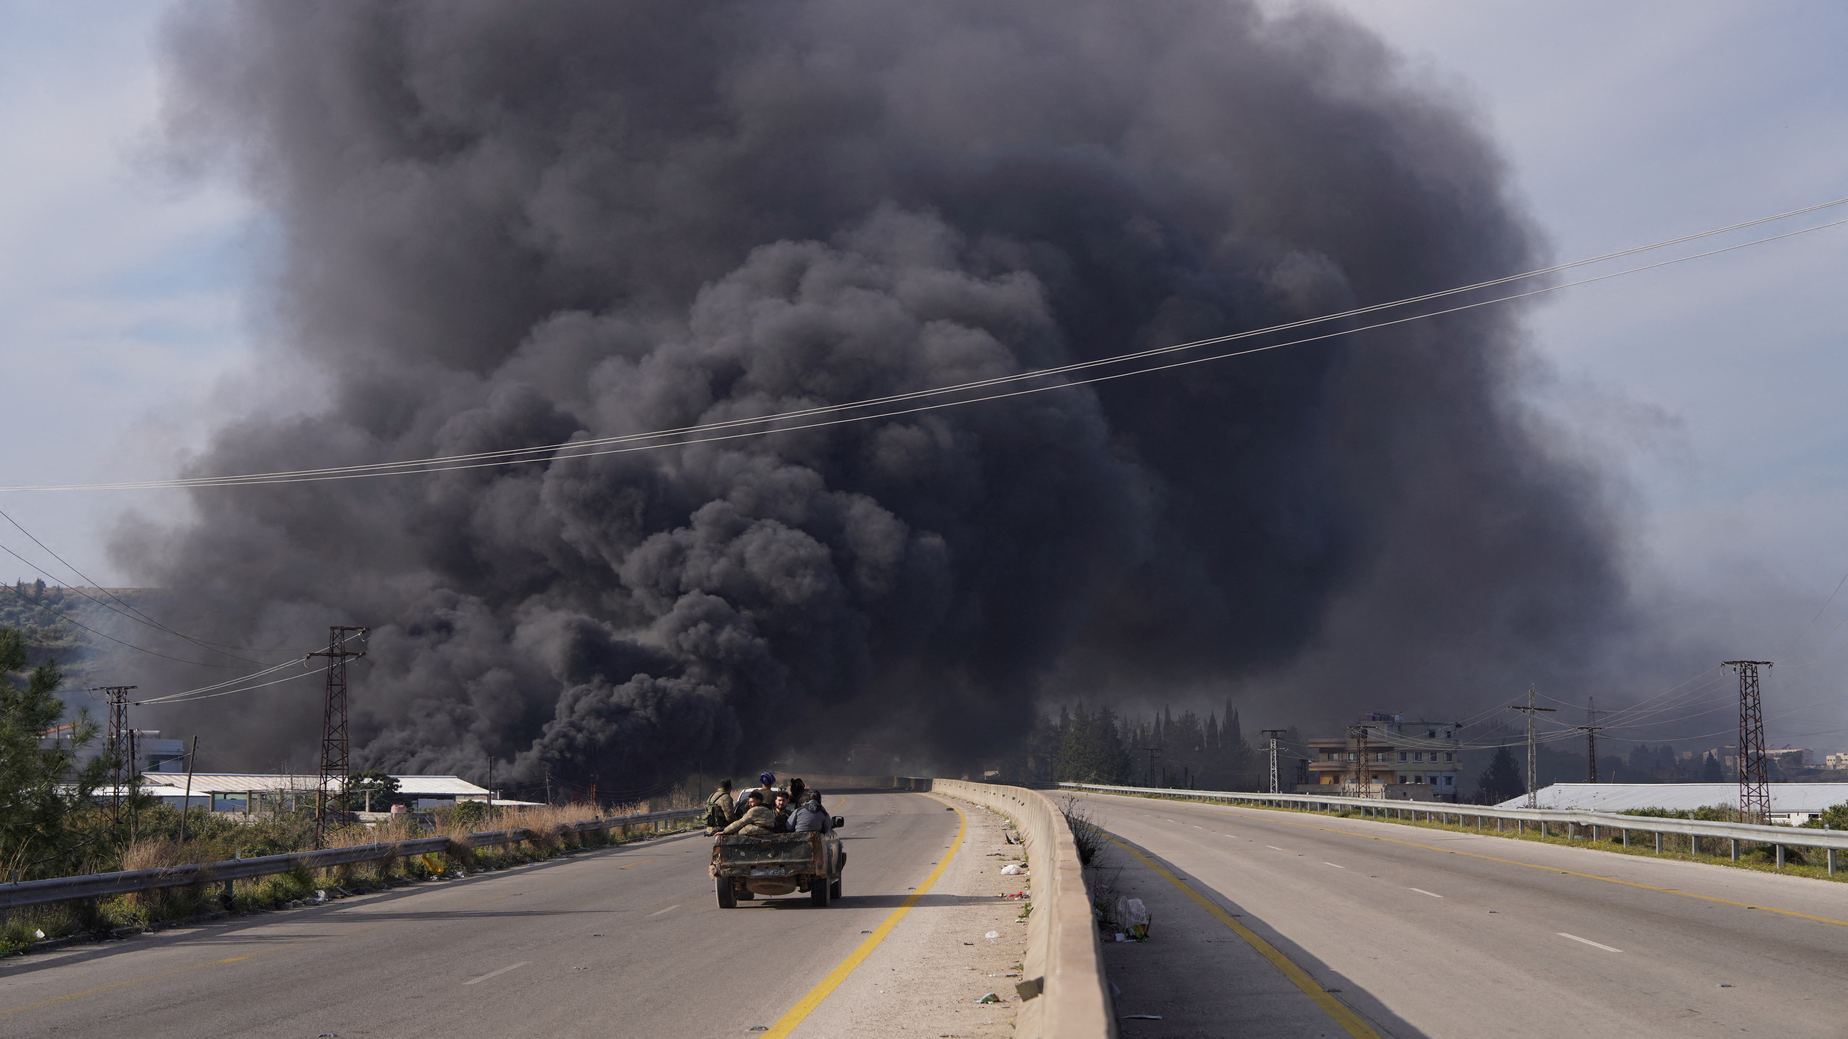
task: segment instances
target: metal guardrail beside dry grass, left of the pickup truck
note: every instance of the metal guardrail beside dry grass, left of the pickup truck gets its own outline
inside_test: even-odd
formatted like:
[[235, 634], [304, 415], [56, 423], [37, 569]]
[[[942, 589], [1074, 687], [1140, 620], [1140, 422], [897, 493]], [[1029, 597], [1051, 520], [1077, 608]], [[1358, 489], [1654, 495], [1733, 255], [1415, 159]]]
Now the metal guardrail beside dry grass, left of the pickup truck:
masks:
[[[567, 823], [562, 832], [584, 834], [590, 830], [615, 830], [643, 823], [667, 823], [675, 819], [693, 819], [704, 815], [704, 808], [678, 808], [675, 812], [645, 812], [639, 815], [612, 815], [608, 819], [586, 819]], [[20, 906], [43, 906], [46, 902], [68, 902], [72, 898], [100, 898], [109, 895], [131, 895], [137, 891], [159, 891], [163, 887], [190, 887], [194, 884], [218, 884], [224, 880], [248, 880], [251, 876], [274, 876], [296, 869], [327, 869], [359, 862], [379, 862], [399, 856], [418, 856], [444, 852], [456, 843], [469, 849], [493, 845], [512, 845], [517, 841], [545, 839], [551, 834], [538, 830], [492, 830], [466, 834], [462, 837], [414, 837], [408, 841], [381, 841], [373, 845], [353, 845], [346, 849], [322, 849], [310, 852], [268, 854], [261, 858], [235, 858], [227, 862], [198, 862], [185, 865], [166, 865], [159, 869], [129, 869], [124, 873], [91, 873], [85, 876], [55, 876], [52, 880], [24, 880], [18, 884], [0, 884], [0, 910]]]

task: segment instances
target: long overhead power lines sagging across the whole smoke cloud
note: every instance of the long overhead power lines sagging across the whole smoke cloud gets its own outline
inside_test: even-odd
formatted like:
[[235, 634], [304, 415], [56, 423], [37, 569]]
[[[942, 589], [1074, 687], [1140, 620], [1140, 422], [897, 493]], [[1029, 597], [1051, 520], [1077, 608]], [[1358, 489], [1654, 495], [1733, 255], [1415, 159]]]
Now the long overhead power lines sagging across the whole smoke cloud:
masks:
[[[584, 457], [617, 455], [617, 453], [630, 453], [630, 451], [650, 451], [650, 449], [656, 449], [656, 447], [673, 447], [673, 446], [689, 446], [689, 444], [710, 444], [710, 442], [719, 442], [719, 440], [736, 440], [736, 438], [745, 438], [745, 436], [761, 436], [761, 434], [769, 434], [769, 433], [793, 433], [793, 431], [800, 431], [800, 429], [817, 429], [817, 427], [826, 427], [826, 425], [841, 425], [841, 423], [848, 423], [848, 422], [867, 422], [867, 420], [874, 420], [874, 418], [893, 418], [893, 416], [900, 416], [900, 414], [915, 414], [915, 412], [935, 410], [935, 409], [942, 409], [942, 407], [957, 407], [957, 405], [968, 405], [968, 403], [981, 403], [981, 401], [1003, 399], [1003, 397], [1013, 397], [1013, 396], [1022, 396], [1022, 394], [1035, 394], [1035, 392], [1055, 390], [1055, 388], [1085, 386], [1085, 385], [1092, 385], [1092, 383], [1105, 383], [1105, 381], [1112, 381], [1112, 379], [1124, 379], [1124, 377], [1129, 377], [1129, 375], [1146, 375], [1146, 373], [1151, 373], [1151, 372], [1164, 372], [1164, 370], [1170, 370], [1170, 368], [1183, 368], [1183, 366], [1188, 366], [1188, 364], [1203, 364], [1203, 362], [1209, 362], [1209, 361], [1225, 361], [1225, 359], [1231, 359], [1231, 357], [1244, 357], [1244, 355], [1249, 355], [1249, 353], [1264, 353], [1264, 351], [1270, 351], [1270, 349], [1283, 349], [1286, 346], [1301, 346], [1301, 344], [1307, 344], [1307, 342], [1319, 342], [1319, 340], [1327, 340], [1327, 338], [1334, 338], [1334, 336], [1342, 336], [1342, 335], [1355, 335], [1355, 333], [1362, 333], [1362, 331], [1382, 329], [1382, 327], [1390, 327], [1390, 325], [1397, 325], [1397, 324], [1404, 324], [1404, 322], [1414, 322], [1414, 320], [1423, 320], [1423, 318], [1434, 318], [1434, 316], [1443, 316], [1443, 314], [1454, 314], [1454, 312], [1469, 311], [1469, 309], [1475, 309], [1475, 307], [1486, 307], [1486, 305], [1493, 305], [1493, 303], [1506, 303], [1506, 301], [1512, 301], [1512, 299], [1525, 299], [1528, 296], [1539, 296], [1539, 294], [1545, 294], [1545, 292], [1556, 292], [1560, 288], [1573, 288], [1573, 287], [1578, 287], [1578, 285], [1591, 285], [1595, 281], [1608, 281], [1611, 277], [1623, 277], [1623, 275], [1628, 275], [1628, 274], [1654, 270], [1654, 268], [1660, 268], [1660, 266], [1671, 266], [1671, 264], [1676, 264], [1676, 263], [1687, 263], [1687, 261], [1693, 261], [1693, 259], [1711, 257], [1711, 255], [1719, 255], [1719, 253], [1726, 253], [1726, 251], [1733, 251], [1733, 250], [1743, 250], [1743, 248], [1750, 248], [1750, 246], [1757, 246], [1757, 244], [1765, 244], [1765, 242], [1774, 242], [1774, 240], [1780, 240], [1780, 238], [1789, 238], [1789, 237], [1794, 237], [1794, 235], [1807, 235], [1811, 231], [1820, 231], [1820, 229], [1826, 229], [1826, 227], [1835, 227], [1835, 226], [1841, 226], [1841, 224], [1848, 224], [1848, 220], [1835, 220], [1835, 222], [1830, 222], [1830, 224], [1818, 224], [1818, 226], [1804, 227], [1804, 229], [1798, 229], [1798, 231], [1787, 231], [1783, 235], [1770, 235], [1770, 237], [1757, 238], [1757, 240], [1752, 240], [1752, 242], [1741, 242], [1741, 244], [1735, 244], [1735, 246], [1724, 246], [1724, 248], [1709, 250], [1709, 251], [1704, 251], [1704, 253], [1693, 253], [1693, 255], [1676, 257], [1676, 259], [1669, 259], [1669, 261], [1661, 261], [1661, 263], [1654, 263], [1654, 264], [1643, 264], [1643, 266], [1621, 270], [1621, 272], [1615, 272], [1615, 274], [1604, 274], [1604, 275], [1599, 275], [1599, 277], [1587, 277], [1587, 279], [1571, 281], [1571, 283], [1563, 283], [1563, 285], [1550, 285], [1550, 287], [1536, 288], [1536, 290], [1530, 290], [1530, 292], [1517, 292], [1517, 294], [1510, 294], [1510, 296], [1499, 296], [1499, 298], [1493, 298], [1493, 299], [1482, 299], [1482, 301], [1475, 301], [1475, 303], [1464, 303], [1464, 305], [1449, 307], [1449, 309], [1443, 309], [1443, 311], [1430, 311], [1430, 312], [1423, 312], [1423, 314], [1412, 314], [1408, 318], [1395, 318], [1395, 320], [1390, 320], [1390, 322], [1379, 322], [1379, 324], [1353, 327], [1353, 329], [1338, 329], [1334, 333], [1307, 336], [1307, 338], [1299, 338], [1299, 340], [1290, 340], [1290, 342], [1281, 342], [1281, 344], [1271, 344], [1271, 346], [1260, 346], [1260, 348], [1251, 348], [1251, 349], [1240, 349], [1240, 351], [1229, 351], [1229, 353], [1220, 353], [1220, 355], [1212, 355], [1212, 357], [1198, 357], [1198, 359], [1190, 359], [1190, 361], [1179, 361], [1179, 362], [1172, 362], [1172, 364], [1159, 364], [1159, 366], [1140, 368], [1140, 370], [1133, 370], [1133, 372], [1122, 372], [1122, 373], [1114, 373], [1114, 375], [1100, 375], [1100, 377], [1092, 377], [1092, 379], [1064, 381], [1064, 383], [1057, 383], [1057, 385], [1052, 385], [1052, 386], [1033, 386], [1033, 388], [1026, 388], [1026, 390], [1011, 390], [1011, 392], [1003, 392], [1003, 394], [989, 394], [989, 396], [978, 396], [978, 397], [957, 399], [957, 401], [920, 405], [920, 407], [913, 407], [913, 409], [898, 409], [898, 410], [885, 410], [885, 412], [876, 412], [876, 414], [861, 414], [861, 416], [837, 418], [837, 420], [826, 420], [826, 422], [811, 422], [811, 423], [802, 423], [802, 425], [793, 425], [793, 427], [754, 429], [754, 431], [747, 431], [747, 433], [728, 433], [728, 434], [719, 434], [719, 436], [699, 436], [699, 438], [665, 440], [665, 442], [658, 442], [658, 444], [638, 444], [638, 442], [649, 442], [649, 440], [662, 440], [662, 438], [667, 438], [667, 436], [686, 436], [686, 434], [693, 434], [693, 433], [715, 433], [715, 431], [734, 429], [734, 427], [741, 427], [741, 425], [767, 425], [767, 423], [772, 423], [772, 422], [782, 422], [782, 420], [791, 420], [791, 418], [808, 418], [808, 416], [833, 414], [833, 412], [852, 410], [852, 409], [880, 407], [880, 405], [887, 405], [887, 403], [900, 403], [900, 401], [911, 401], [911, 399], [920, 399], [920, 397], [930, 397], [930, 396], [967, 392], [967, 390], [987, 388], [987, 386], [996, 386], [996, 385], [1005, 385], [1005, 383], [1015, 383], [1015, 381], [1024, 381], [1024, 379], [1039, 379], [1039, 377], [1061, 375], [1061, 373], [1066, 373], [1066, 372], [1076, 372], [1076, 370], [1085, 370], [1085, 368], [1096, 368], [1096, 366], [1103, 366], [1103, 364], [1120, 364], [1120, 362], [1127, 362], [1127, 361], [1138, 361], [1138, 359], [1164, 355], [1164, 353], [1173, 353], [1173, 351], [1181, 351], [1181, 349], [1196, 349], [1199, 346], [1212, 346], [1212, 344], [1222, 344], [1222, 342], [1233, 342], [1233, 340], [1240, 340], [1240, 338], [1249, 338], [1249, 336], [1257, 336], [1257, 335], [1266, 335], [1266, 333], [1275, 333], [1275, 331], [1286, 331], [1286, 329], [1305, 327], [1305, 325], [1321, 324], [1321, 322], [1329, 322], [1329, 320], [1338, 320], [1338, 318], [1347, 318], [1347, 316], [1375, 312], [1375, 311], [1382, 311], [1382, 309], [1390, 309], [1390, 307], [1399, 307], [1399, 305], [1408, 305], [1408, 303], [1416, 303], [1416, 301], [1429, 301], [1429, 299], [1436, 299], [1436, 298], [1443, 298], [1443, 296], [1454, 296], [1458, 292], [1469, 292], [1469, 290], [1475, 290], [1475, 288], [1484, 288], [1484, 287], [1493, 287], [1493, 285], [1506, 285], [1510, 281], [1519, 281], [1519, 279], [1525, 279], [1525, 277], [1536, 277], [1536, 275], [1541, 275], [1541, 274], [1552, 274], [1552, 272], [1558, 272], [1558, 270], [1567, 270], [1567, 268], [1573, 268], [1573, 266], [1584, 266], [1584, 264], [1591, 264], [1591, 263], [1599, 263], [1599, 261], [1606, 261], [1606, 259], [1613, 259], [1613, 257], [1634, 255], [1634, 253], [1639, 253], [1639, 251], [1648, 251], [1648, 250], [1663, 248], [1663, 246], [1669, 246], [1669, 244], [1678, 244], [1678, 242], [1687, 242], [1687, 240], [1695, 240], [1695, 238], [1702, 238], [1702, 237], [1711, 237], [1711, 235], [1719, 235], [1719, 233], [1724, 233], [1724, 231], [1732, 231], [1732, 229], [1739, 229], [1739, 227], [1750, 227], [1750, 226], [1756, 226], [1756, 224], [1765, 224], [1765, 222], [1770, 222], [1770, 220], [1781, 220], [1785, 216], [1794, 216], [1794, 214], [1802, 214], [1802, 213], [1813, 213], [1813, 211], [1818, 211], [1818, 209], [1828, 209], [1828, 207], [1842, 205], [1842, 203], [1848, 203], [1848, 200], [1828, 202], [1828, 203], [1822, 203], [1822, 205], [1796, 209], [1796, 211], [1783, 213], [1783, 214], [1778, 214], [1778, 216], [1765, 216], [1761, 220], [1752, 220], [1752, 222], [1746, 222], [1746, 224], [1733, 224], [1730, 227], [1720, 227], [1720, 229], [1713, 229], [1713, 231], [1702, 231], [1698, 235], [1685, 235], [1685, 237], [1672, 238], [1672, 240], [1667, 240], [1667, 242], [1656, 242], [1652, 246], [1637, 246], [1637, 248], [1623, 250], [1623, 251], [1617, 251], [1617, 253], [1606, 253], [1602, 257], [1591, 257], [1591, 259], [1584, 259], [1584, 261], [1573, 261], [1573, 263], [1567, 263], [1567, 264], [1556, 264], [1556, 266], [1550, 266], [1550, 268], [1541, 268], [1541, 270], [1532, 270], [1532, 272], [1525, 272], [1525, 274], [1515, 274], [1515, 275], [1508, 275], [1508, 277], [1501, 277], [1501, 279], [1493, 279], [1493, 281], [1482, 281], [1482, 283], [1465, 285], [1465, 287], [1458, 287], [1458, 288], [1445, 288], [1441, 292], [1430, 292], [1430, 294], [1425, 294], [1425, 296], [1410, 296], [1410, 298], [1404, 298], [1404, 299], [1393, 299], [1390, 303], [1375, 303], [1375, 305], [1369, 305], [1369, 307], [1360, 307], [1360, 309], [1355, 309], [1355, 311], [1343, 311], [1343, 312], [1338, 312], [1338, 314], [1325, 314], [1325, 316], [1319, 316], [1319, 318], [1307, 318], [1307, 320], [1301, 320], [1301, 322], [1288, 322], [1288, 324], [1283, 324], [1283, 325], [1270, 325], [1270, 327], [1264, 327], [1264, 329], [1233, 333], [1233, 335], [1225, 335], [1225, 336], [1214, 336], [1214, 338], [1194, 340], [1194, 342], [1185, 342], [1185, 344], [1173, 344], [1173, 346], [1164, 346], [1164, 348], [1155, 348], [1155, 349], [1146, 349], [1146, 351], [1124, 353], [1124, 355], [1105, 357], [1105, 359], [1098, 359], [1098, 361], [1081, 361], [1081, 362], [1055, 366], [1055, 368], [1040, 368], [1040, 370], [1033, 370], [1033, 372], [1022, 372], [1022, 373], [1016, 373], [1016, 375], [1002, 375], [1002, 377], [994, 377], [994, 379], [981, 379], [981, 381], [961, 383], [961, 385], [954, 385], [954, 386], [939, 386], [939, 388], [931, 388], [931, 390], [911, 390], [911, 392], [906, 392], [906, 394], [891, 394], [891, 396], [885, 396], [885, 397], [870, 397], [870, 399], [850, 401], [850, 403], [841, 403], [841, 405], [821, 405], [821, 407], [813, 407], [813, 409], [796, 409], [796, 410], [778, 412], [778, 414], [769, 414], [769, 416], [736, 418], [736, 420], [724, 420], [724, 422], [713, 422], [713, 423], [702, 423], [702, 425], [687, 425], [687, 427], [678, 427], [678, 429], [662, 429], [662, 431], [652, 431], [652, 433], [632, 433], [632, 434], [623, 434], [623, 436], [604, 436], [604, 438], [591, 438], [591, 440], [569, 440], [569, 442], [564, 442], [564, 444], [551, 444], [551, 446], [541, 446], [541, 447], [516, 447], [516, 449], [482, 451], [482, 453], [471, 453], [471, 455], [442, 455], [442, 457], [412, 458], [412, 460], [401, 460], [401, 462], [371, 462], [371, 464], [360, 464], [360, 466], [333, 466], [333, 468], [320, 468], [320, 470], [283, 470], [283, 471], [270, 471], [270, 473], [244, 473], [244, 475], [227, 475], [227, 477], [179, 477], [179, 479], [164, 479], [164, 481], [131, 481], [131, 483], [105, 483], [105, 484], [9, 486], [9, 488], [0, 488], [0, 490], [7, 490], [7, 492], [26, 492], [26, 490], [161, 490], [161, 488], [196, 488], [196, 486], [251, 486], [251, 484], [268, 484], [268, 483], [314, 483], [314, 481], [331, 481], [331, 479], [360, 479], [360, 477], [373, 477], [373, 475], [434, 473], [434, 471], [492, 468], [492, 466], [530, 464], [530, 462], [543, 462], [543, 460], [556, 460], [556, 458], [584, 458]], [[584, 451], [582, 449], [582, 447], [604, 447], [604, 446], [610, 446], [610, 444], [636, 444], [636, 446], [612, 447], [612, 449], [602, 449], [602, 451]], [[554, 453], [554, 455], [551, 455], [551, 457], [538, 457], [538, 455], [547, 455], [547, 453]], [[492, 460], [480, 460], [480, 458], [492, 458]], [[458, 462], [458, 464], [444, 464], [444, 462]]]

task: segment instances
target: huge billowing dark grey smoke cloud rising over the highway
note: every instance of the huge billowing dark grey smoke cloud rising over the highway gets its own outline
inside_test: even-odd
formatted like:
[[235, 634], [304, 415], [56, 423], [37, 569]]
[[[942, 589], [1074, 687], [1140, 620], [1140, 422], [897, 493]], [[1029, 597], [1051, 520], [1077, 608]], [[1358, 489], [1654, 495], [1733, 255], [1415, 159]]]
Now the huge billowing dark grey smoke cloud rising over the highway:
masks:
[[[274, 351], [329, 394], [198, 473], [848, 401], [1536, 266], [1471, 120], [1319, 13], [277, 0], [168, 44], [176, 153], [274, 213]], [[621, 786], [869, 734], [954, 765], [1048, 695], [1456, 697], [1427, 686], [1584, 645], [1619, 595], [1599, 481], [1512, 401], [1512, 322], [207, 490], [118, 553], [238, 645], [373, 625], [359, 756], [394, 769]], [[301, 762], [294, 697], [209, 721]]]

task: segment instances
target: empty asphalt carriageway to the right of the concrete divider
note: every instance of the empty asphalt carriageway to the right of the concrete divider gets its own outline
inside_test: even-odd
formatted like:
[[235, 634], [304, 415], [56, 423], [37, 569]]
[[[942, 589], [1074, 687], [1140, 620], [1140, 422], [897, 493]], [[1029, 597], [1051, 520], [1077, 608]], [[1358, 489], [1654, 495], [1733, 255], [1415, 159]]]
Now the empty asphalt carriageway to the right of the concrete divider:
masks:
[[1125, 1037], [1848, 1035], [1848, 884], [1314, 813], [1081, 801], [1142, 852], [1111, 856], [1153, 915], [1151, 941], [1105, 945]]

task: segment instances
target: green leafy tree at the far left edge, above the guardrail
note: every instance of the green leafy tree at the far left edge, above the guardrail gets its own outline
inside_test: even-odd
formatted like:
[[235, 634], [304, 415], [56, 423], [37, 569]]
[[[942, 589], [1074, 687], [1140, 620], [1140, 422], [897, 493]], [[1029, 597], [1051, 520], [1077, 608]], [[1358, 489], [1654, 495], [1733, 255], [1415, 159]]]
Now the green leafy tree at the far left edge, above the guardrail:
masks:
[[[78, 769], [78, 751], [96, 738], [89, 712], [65, 725], [65, 682], [55, 660], [26, 673], [18, 629], [0, 629], [0, 871], [6, 880], [63, 876], [91, 839], [76, 826], [91, 808], [109, 762]], [[26, 673], [24, 682], [13, 675]], [[94, 837], [92, 837], [94, 839]], [[98, 849], [100, 850], [100, 849]]]

